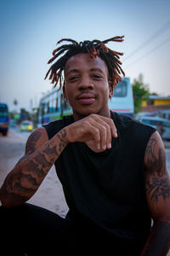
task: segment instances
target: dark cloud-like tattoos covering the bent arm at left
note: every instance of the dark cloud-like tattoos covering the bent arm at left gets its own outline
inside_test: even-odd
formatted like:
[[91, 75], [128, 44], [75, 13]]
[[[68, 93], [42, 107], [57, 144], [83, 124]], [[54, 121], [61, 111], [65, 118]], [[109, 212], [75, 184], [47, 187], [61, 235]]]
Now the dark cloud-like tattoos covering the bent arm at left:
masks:
[[0, 190], [4, 206], [19, 205], [30, 199], [67, 144], [66, 131], [63, 129], [36, 150], [37, 141], [41, 136], [40, 131], [32, 133], [26, 143], [25, 156], [6, 177]]

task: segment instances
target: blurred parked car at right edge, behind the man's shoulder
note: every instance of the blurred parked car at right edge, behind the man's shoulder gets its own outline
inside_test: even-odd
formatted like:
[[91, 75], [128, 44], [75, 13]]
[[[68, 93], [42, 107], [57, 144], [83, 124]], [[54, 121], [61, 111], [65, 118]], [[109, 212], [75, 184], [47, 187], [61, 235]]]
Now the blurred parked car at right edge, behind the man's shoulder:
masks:
[[154, 127], [160, 133], [162, 139], [170, 140], [170, 120], [161, 119], [157, 116], [143, 116], [140, 121], [145, 125]]

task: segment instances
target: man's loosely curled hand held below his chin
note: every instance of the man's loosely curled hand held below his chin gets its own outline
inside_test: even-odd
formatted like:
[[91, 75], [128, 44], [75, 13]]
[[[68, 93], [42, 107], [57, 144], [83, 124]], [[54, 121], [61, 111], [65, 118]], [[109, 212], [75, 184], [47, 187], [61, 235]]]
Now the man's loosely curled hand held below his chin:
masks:
[[97, 114], [65, 127], [68, 143], [94, 143], [95, 148], [105, 150], [111, 148], [111, 137], [117, 137], [116, 126], [113, 120]]

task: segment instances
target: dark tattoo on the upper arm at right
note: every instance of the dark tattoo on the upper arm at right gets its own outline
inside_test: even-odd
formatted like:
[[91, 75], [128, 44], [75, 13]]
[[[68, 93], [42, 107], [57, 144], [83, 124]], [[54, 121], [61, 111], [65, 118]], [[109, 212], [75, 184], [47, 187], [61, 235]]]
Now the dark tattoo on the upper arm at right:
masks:
[[166, 175], [166, 159], [163, 148], [156, 148], [157, 141], [155, 138], [150, 139], [146, 148], [147, 166], [146, 171], [146, 190], [150, 198], [155, 203], [161, 196], [165, 201], [170, 198], [170, 184]]

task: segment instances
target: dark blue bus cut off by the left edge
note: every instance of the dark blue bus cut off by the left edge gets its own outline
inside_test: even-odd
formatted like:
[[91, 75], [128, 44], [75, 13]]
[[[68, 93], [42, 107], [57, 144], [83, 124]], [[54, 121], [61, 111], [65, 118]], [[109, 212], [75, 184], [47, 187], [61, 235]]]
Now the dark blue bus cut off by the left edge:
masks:
[[0, 132], [3, 133], [3, 136], [8, 134], [8, 126], [8, 105], [6, 103], [0, 103]]

